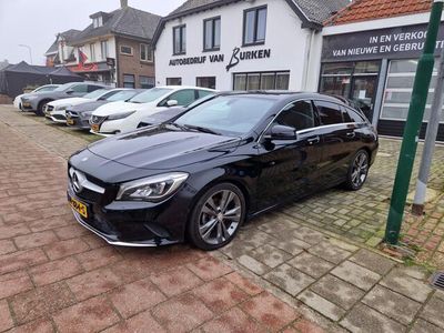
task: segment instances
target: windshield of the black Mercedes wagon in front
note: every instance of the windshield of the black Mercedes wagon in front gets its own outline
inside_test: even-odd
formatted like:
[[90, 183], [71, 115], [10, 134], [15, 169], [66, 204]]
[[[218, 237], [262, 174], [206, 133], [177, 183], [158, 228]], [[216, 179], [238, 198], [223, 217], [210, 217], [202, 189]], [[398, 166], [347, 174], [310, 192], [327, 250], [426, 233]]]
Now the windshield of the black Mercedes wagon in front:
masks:
[[274, 100], [264, 97], [216, 97], [191, 109], [175, 124], [240, 137], [251, 132], [273, 107]]

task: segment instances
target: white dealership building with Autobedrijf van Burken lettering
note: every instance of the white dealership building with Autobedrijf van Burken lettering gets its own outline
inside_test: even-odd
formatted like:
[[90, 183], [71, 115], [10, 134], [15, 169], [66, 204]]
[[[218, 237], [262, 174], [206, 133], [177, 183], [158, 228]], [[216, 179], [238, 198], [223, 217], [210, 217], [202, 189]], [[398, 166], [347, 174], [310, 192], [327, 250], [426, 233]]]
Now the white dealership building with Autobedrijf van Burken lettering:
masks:
[[189, 0], [154, 33], [157, 84], [314, 91], [322, 22], [347, 3]]

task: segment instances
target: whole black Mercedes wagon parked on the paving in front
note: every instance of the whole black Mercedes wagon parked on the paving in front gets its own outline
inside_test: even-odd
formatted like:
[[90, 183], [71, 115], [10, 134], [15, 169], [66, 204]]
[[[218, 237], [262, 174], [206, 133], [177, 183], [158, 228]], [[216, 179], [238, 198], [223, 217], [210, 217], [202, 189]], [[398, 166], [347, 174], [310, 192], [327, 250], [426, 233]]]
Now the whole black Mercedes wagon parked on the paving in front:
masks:
[[68, 200], [108, 243], [228, 244], [242, 223], [336, 185], [360, 190], [377, 134], [360, 110], [316, 93], [230, 92], [168, 123], [74, 153]]

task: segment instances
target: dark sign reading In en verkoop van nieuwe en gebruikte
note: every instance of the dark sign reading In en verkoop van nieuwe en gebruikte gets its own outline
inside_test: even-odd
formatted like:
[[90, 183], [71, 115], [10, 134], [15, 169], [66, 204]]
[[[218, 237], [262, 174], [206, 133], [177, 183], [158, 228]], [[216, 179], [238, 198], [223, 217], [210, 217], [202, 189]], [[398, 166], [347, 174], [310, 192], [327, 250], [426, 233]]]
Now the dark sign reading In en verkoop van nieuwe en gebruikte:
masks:
[[[420, 58], [426, 36], [427, 24], [325, 36], [322, 61]], [[443, 47], [442, 26], [436, 41], [436, 54], [440, 54]]]

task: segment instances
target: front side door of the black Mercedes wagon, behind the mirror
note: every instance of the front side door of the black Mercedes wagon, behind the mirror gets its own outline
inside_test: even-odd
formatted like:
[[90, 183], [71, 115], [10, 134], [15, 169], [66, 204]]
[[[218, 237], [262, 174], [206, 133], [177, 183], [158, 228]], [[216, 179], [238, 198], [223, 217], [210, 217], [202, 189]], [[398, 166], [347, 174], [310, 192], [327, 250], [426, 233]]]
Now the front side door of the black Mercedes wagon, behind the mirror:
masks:
[[317, 123], [313, 102], [302, 100], [287, 104], [269, 127], [269, 130], [276, 124], [292, 127], [297, 131], [297, 139], [262, 139], [258, 159], [259, 209], [270, 208], [287, 198], [300, 198], [313, 190], [322, 149]]

